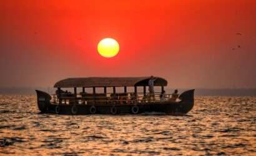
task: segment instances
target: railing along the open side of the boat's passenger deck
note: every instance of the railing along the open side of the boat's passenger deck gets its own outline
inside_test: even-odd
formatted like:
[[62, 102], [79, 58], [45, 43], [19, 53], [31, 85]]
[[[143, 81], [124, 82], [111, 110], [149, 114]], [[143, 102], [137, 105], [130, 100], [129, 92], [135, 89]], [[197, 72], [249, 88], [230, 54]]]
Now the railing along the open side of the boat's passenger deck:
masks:
[[165, 94], [164, 98], [161, 98], [160, 92], [155, 94], [144, 94], [143, 92], [127, 92], [116, 94], [89, 94], [81, 93], [77, 94], [61, 94], [57, 96], [52, 95], [52, 102], [57, 104], [137, 104], [137, 103], [152, 103], [152, 102], [166, 102], [171, 100], [172, 94]]

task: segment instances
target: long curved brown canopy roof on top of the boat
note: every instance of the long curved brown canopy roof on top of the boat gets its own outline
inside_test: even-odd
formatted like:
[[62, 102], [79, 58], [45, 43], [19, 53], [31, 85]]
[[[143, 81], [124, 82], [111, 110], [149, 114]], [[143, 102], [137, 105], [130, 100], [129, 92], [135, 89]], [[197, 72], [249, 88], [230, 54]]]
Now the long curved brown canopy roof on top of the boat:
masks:
[[[155, 77], [155, 86], [166, 86], [167, 80]], [[132, 87], [148, 85], [150, 77], [84, 77], [59, 80], [54, 87]]]

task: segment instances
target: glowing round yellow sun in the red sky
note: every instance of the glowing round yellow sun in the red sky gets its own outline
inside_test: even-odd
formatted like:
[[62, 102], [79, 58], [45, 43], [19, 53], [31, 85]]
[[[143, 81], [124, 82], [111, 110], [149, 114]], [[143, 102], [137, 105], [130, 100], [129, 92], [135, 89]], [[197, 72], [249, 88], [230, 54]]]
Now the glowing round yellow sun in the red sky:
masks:
[[110, 58], [118, 54], [119, 44], [114, 39], [105, 38], [99, 41], [97, 49], [101, 56]]

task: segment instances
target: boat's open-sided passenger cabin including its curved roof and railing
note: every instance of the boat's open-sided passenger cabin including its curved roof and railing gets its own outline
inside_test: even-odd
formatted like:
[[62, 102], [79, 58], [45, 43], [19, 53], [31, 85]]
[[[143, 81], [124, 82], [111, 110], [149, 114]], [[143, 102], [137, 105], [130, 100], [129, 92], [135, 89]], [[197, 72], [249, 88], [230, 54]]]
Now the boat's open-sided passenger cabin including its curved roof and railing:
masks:
[[[59, 80], [54, 87], [57, 89], [54, 95], [54, 103], [57, 104], [137, 104], [160, 101], [160, 93], [167, 85], [167, 80], [155, 77], [154, 87], [159, 87], [160, 92], [150, 95], [147, 87], [150, 77], [85, 77]], [[92, 92], [86, 92], [91, 88]], [[97, 89], [103, 92], [96, 92]], [[122, 92], [117, 92], [117, 89]], [[62, 89], [72, 89], [67, 92]], [[81, 90], [78, 92], [78, 89]], [[112, 92], [109, 92], [109, 90]], [[139, 92], [139, 90], [142, 92]], [[128, 90], [133, 90], [129, 92]], [[167, 95], [166, 98], [169, 98]]]

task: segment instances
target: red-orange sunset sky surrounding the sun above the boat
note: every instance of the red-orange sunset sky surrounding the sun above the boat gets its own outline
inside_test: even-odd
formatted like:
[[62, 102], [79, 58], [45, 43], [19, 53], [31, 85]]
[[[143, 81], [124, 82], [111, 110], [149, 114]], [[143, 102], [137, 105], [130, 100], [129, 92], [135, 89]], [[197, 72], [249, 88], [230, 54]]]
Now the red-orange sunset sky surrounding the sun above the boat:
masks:
[[[97, 52], [105, 37], [116, 57]], [[169, 87], [255, 88], [255, 68], [255, 0], [0, 1], [0, 87], [154, 75]]]

